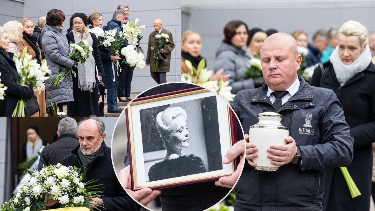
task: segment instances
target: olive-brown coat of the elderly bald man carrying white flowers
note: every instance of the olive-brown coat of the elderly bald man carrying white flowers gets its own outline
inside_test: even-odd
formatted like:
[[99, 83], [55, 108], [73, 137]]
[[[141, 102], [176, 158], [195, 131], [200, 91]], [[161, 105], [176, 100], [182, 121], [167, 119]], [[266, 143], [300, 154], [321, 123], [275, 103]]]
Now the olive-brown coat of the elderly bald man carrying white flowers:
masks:
[[150, 64], [150, 72], [169, 72], [169, 66], [171, 65], [171, 52], [174, 48], [172, 33], [164, 28], [162, 29], [161, 33], [167, 34], [169, 36], [169, 43], [166, 45], [164, 49], [164, 54], [168, 58], [168, 61], [164, 62], [163, 60], [159, 59], [159, 70], [155, 71], [153, 69], [156, 59], [153, 57], [154, 50], [151, 50], [150, 48], [155, 45], [156, 31], [151, 32], [150, 36], [148, 37], [148, 49], [146, 56], [146, 64]]

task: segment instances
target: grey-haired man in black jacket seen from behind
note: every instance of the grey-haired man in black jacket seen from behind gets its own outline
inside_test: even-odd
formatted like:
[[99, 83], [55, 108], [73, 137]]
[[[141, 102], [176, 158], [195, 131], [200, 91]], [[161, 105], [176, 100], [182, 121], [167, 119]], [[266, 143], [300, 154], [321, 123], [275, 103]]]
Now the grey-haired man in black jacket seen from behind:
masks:
[[43, 166], [56, 165], [61, 159], [69, 155], [79, 144], [77, 138], [77, 122], [71, 117], [66, 117], [58, 122], [57, 140], [55, 143], [43, 148], [40, 153], [38, 171]]

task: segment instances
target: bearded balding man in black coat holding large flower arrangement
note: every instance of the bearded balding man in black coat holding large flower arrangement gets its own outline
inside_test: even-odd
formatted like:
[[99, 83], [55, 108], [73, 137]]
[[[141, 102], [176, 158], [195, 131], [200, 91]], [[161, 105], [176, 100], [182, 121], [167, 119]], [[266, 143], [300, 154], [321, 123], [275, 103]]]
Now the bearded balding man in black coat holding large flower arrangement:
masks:
[[[84, 167], [86, 181], [96, 180], [92, 185], [102, 184], [104, 196], [91, 199], [91, 202], [103, 206], [105, 211], [135, 210], [138, 203], [127, 195], [118, 182], [112, 166], [111, 148], [104, 143], [105, 125], [101, 119], [86, 119], [78, 123], [78, 145], [71, 155], [61, 160], [64, 166]], [[102, 204], [102, 205], [101, 205]]]

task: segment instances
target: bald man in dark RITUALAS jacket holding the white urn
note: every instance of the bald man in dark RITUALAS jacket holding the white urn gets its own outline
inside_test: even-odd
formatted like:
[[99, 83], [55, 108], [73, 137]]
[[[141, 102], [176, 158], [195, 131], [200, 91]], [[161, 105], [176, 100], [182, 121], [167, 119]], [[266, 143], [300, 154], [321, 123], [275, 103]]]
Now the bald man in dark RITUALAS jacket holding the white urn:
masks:
[[[258, 122], [259, 113], [276, 112], [283, 116], [289, 136], [285, 145], [266, 149], [271, 163], [280, 166], [278, 171], [263, 172], [254, 168], [258, 148], [245, 135], [247, 162], [235, 186], [234, 210], [323, 210], [325, 169], [348, 166], [353, 158], [353, 138], [341, 104], [332, 90], [312, 87], [297, 75], [301, 56], [292, 36], [269, 36], [260, 55], [266, 83], [238, 92], [231, 106], [244, 131]], [[223, 162], [239, 154], [244, 154], [243, 148], [234, 145]], [[216, 184], [230, 187], [235, 181], [223, 177]]]

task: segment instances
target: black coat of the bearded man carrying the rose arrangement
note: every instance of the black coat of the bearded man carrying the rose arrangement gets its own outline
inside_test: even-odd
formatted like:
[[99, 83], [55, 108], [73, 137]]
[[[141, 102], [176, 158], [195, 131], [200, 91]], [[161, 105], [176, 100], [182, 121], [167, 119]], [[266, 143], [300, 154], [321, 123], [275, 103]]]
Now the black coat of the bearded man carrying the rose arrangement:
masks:
[[[64, 166], [76, 166], [78, 168], [82, 167], [81, 160], [78, 157], [77, 146], [71, 155], [66, 156], [61, 160], [61, 164]], [[118, 182], [117, 176], [112, 166], [111, 159], [111, 148], [107, 147], [105, 143], [102, 143], [99, 153], [95, 155], [94, 160], [86, 171], [86, 180], [96, 180], [98, 181], [92, 183], [91, 185], [103, 184], [101, 190], [104, 190], [103, 202], [107, 211], [120, 211], [120, 210], [135, 210], [138, 207], [136, 203], [130, 196], [125, 192], [124, 188]], [[85, 182], [83, 181], [83, 182]]]

